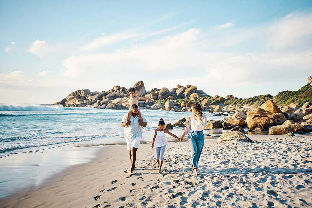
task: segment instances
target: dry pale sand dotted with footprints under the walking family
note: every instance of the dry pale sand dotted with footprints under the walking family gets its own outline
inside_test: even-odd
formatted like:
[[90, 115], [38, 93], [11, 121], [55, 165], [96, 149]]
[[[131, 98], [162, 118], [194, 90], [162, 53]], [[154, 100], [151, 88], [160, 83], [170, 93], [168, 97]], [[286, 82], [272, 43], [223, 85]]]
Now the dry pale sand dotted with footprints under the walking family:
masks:
[[185, 141], [169, 143], [161, 173], [150, 144], [141, 144], [133, 176], [125, 145], [98, 147], [90, 162], [71, 166], [0, 203], [4, 208], [311, 207], [312, 137], [248, 136], [255, 143], [207, 140], [199, 176], [190, 169]]

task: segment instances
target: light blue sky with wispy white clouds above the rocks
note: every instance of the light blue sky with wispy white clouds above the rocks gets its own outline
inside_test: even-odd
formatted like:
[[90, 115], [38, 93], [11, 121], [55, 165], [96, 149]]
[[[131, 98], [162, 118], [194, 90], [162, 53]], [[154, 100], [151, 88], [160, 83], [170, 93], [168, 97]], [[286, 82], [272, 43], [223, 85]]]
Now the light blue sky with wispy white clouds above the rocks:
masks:
[[0, 2], [0, 102], [196, 85], [251, 97], [312, 75], [311, 1]]

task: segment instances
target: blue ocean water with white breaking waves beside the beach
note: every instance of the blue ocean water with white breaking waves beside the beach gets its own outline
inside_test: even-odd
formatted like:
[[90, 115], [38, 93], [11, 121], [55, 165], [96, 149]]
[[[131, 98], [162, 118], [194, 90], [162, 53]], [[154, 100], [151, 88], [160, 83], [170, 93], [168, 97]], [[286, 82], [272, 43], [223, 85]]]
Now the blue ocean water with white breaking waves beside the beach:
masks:
[[[143, 131], [157, 128], [160, 118], [166, 123], [174, 123], [191, 114], [145, 109], [141, 112], [148, 122]], [[0, 157], [96, 139], [104, 139], [107, 144], [120, 143], [110, 138], [123, 134], [120, 121], [126, 113], [127, 110], [92, 107], [0, 104]], [[224, 118], [205, 114], [208, 120]]]

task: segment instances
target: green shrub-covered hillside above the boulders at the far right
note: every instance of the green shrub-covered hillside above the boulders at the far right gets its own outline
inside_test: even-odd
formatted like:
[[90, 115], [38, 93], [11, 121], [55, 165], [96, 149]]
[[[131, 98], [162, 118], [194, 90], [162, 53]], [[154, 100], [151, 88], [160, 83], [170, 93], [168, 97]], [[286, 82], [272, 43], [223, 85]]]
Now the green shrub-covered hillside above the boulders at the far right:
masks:
[[282, 91], [274, 96], [274, 103], [277, 105], [288, 105], [298, 103], [302, 106], [305, 102], [312, 102], [312, 86], [307, 84], [297, 91]]

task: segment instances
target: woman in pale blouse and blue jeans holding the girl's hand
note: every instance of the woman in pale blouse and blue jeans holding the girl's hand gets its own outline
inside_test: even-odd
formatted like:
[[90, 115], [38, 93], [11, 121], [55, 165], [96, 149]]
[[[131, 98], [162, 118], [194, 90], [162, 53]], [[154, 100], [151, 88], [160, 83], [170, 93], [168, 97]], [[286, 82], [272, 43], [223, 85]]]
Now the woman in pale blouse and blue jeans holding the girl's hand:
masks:
[[204, 147], [204, 133], [202, 130], [207, 126], [207, 116], [202, 113], [202, 106], [199, 103], [193, 104], [191, 108], [193, 114], [187, 120], [180, 141], [183, 140], [185, 134], [188, 134], [188, 144], [192, 153], [192, 171], [195, 175], [199, 175], [197, 165]]

